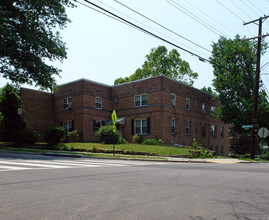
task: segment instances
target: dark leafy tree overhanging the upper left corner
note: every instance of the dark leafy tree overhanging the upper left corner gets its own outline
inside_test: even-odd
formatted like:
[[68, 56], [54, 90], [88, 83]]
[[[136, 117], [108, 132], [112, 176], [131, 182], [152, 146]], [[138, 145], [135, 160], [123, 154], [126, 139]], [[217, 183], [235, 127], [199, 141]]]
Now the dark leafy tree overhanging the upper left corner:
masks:
[[70, 0], [0, 1], [0, 76], [16, 84], [49, 88], [60, 70], [46, 61], [66, 58], [58, 31], [69, 22]]

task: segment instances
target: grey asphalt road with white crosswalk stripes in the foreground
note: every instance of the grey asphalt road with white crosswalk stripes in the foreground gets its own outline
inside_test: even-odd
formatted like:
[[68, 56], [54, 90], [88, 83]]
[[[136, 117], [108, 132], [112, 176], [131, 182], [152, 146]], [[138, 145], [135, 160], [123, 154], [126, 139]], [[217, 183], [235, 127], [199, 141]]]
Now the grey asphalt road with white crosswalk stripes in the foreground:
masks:
[[0, 219], [269, 219], [269, 164], [0, 153]]

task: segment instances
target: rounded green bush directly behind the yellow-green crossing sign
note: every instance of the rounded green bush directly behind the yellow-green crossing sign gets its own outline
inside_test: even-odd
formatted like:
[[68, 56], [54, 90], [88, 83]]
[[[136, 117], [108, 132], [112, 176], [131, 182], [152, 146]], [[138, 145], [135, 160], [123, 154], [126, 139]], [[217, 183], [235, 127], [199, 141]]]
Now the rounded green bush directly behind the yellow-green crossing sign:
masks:
[[95, 132], [95, 136], [105, 144], [117, 144], [120, 140], [119, 131], [114, 133], [112, 125], [106, 125], [99, 128], [99, 130]]

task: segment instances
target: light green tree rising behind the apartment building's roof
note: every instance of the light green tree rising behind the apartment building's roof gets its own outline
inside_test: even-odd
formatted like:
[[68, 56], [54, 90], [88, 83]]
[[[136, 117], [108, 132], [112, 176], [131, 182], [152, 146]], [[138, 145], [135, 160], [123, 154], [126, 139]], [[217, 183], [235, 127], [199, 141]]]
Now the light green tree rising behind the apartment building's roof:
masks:
[[151, 49], [146, 55], [142, 68], [138, 68], [134, 74], [125, 78], [118, 78], [114, 85], [130, 82], [138, 79], [164, 75], [187, 85], [193, 85], [193, 79], [198, 74], [193, 72], [190, 65], [180, 58], [177, 50], [172, 49], [169, 53], [165, 46]]

